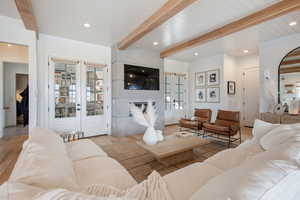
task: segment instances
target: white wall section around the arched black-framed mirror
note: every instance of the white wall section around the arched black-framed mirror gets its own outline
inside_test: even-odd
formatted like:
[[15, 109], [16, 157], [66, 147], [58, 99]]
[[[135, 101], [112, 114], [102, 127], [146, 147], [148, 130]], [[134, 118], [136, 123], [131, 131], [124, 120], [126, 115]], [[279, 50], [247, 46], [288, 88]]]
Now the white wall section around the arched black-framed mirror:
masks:
[[[260, 112], [268, 111], [270, 102], [277, 103], [279, 64], [286, 54], [299, 46], [300, 34], [271, 40], [260, 45]], [[265, 72], [270, 73], [270, 80], [265, 79]], [[270, 93], [267, 91], [270, 91]]]

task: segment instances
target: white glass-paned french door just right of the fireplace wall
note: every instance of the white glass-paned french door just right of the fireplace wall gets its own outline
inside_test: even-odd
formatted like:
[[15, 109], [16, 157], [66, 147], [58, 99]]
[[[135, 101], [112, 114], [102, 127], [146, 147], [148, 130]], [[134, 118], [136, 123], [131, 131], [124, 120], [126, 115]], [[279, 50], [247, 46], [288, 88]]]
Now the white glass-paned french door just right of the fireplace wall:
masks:
[[165, 73], [165, 123], [178, 123], [187, 113], [186, 74]]

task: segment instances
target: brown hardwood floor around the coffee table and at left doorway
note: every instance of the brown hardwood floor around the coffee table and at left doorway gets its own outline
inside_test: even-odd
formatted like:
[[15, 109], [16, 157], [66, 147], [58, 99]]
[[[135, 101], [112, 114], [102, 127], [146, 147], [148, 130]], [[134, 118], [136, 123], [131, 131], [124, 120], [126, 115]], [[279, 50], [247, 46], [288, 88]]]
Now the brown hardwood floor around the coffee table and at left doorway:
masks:
[[[165, 134], [178, 131], [178, 126], [168, 126]], [[243, 140], [251, 137], [251, 129], [242, 128]], [[183, 163], [165, 167], [155, 158], [136, 144], [142, 135], [128, 137], [98, 136], [90, 138], [99, 145], [110, 157], [121, 163], [129, 173], [138, 181], [144, 180], [153, 170], [162, 176], [183, 168], [195, 162], [201, 162], [208, 157], [227, 148], [227, 144], [210, 140], [208, 144], [199, 146], [194, 151], [194, 158]], [[0, 184], [5, 182], [11, 174], [18, 155], [22, 149], [27, 135], [11, 136], [0, 139]]]

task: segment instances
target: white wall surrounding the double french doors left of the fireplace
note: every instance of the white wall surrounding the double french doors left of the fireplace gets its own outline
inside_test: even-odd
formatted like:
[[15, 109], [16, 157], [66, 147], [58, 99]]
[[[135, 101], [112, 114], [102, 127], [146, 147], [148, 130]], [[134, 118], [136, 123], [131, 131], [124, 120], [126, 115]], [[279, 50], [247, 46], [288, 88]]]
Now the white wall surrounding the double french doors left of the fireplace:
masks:
[[[40, 34], [38, 41], [38, 125], [48, 127], [48, 59], [49, 57], [58, 57], [64, 59], [77, 59], [94, 63], [107, 64], [109, 69], [109, 91], [111, 88], [111, 48], [93, 45], [85, 42], [69, 40], [60, 37]], [[109, 93], [108, 99], [111, 99]], [[111, 103], [109, 103], [111, 107]], [[111, 116], [109, 109], [108, 116]], [[110, 127], [110, 120], [109, 120]], [[110, 130], [109, 130], [110, 131]]]

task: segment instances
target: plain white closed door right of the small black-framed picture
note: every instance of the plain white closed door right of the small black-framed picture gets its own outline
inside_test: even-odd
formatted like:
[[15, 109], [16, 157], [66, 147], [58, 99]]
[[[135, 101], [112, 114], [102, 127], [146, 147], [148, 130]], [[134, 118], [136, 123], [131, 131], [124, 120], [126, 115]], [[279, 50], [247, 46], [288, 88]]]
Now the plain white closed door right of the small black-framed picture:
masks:
[[242, 72], [242, 123], [253, 127], [254, 120], [259, 118], [259, 68], [247, 68]]

